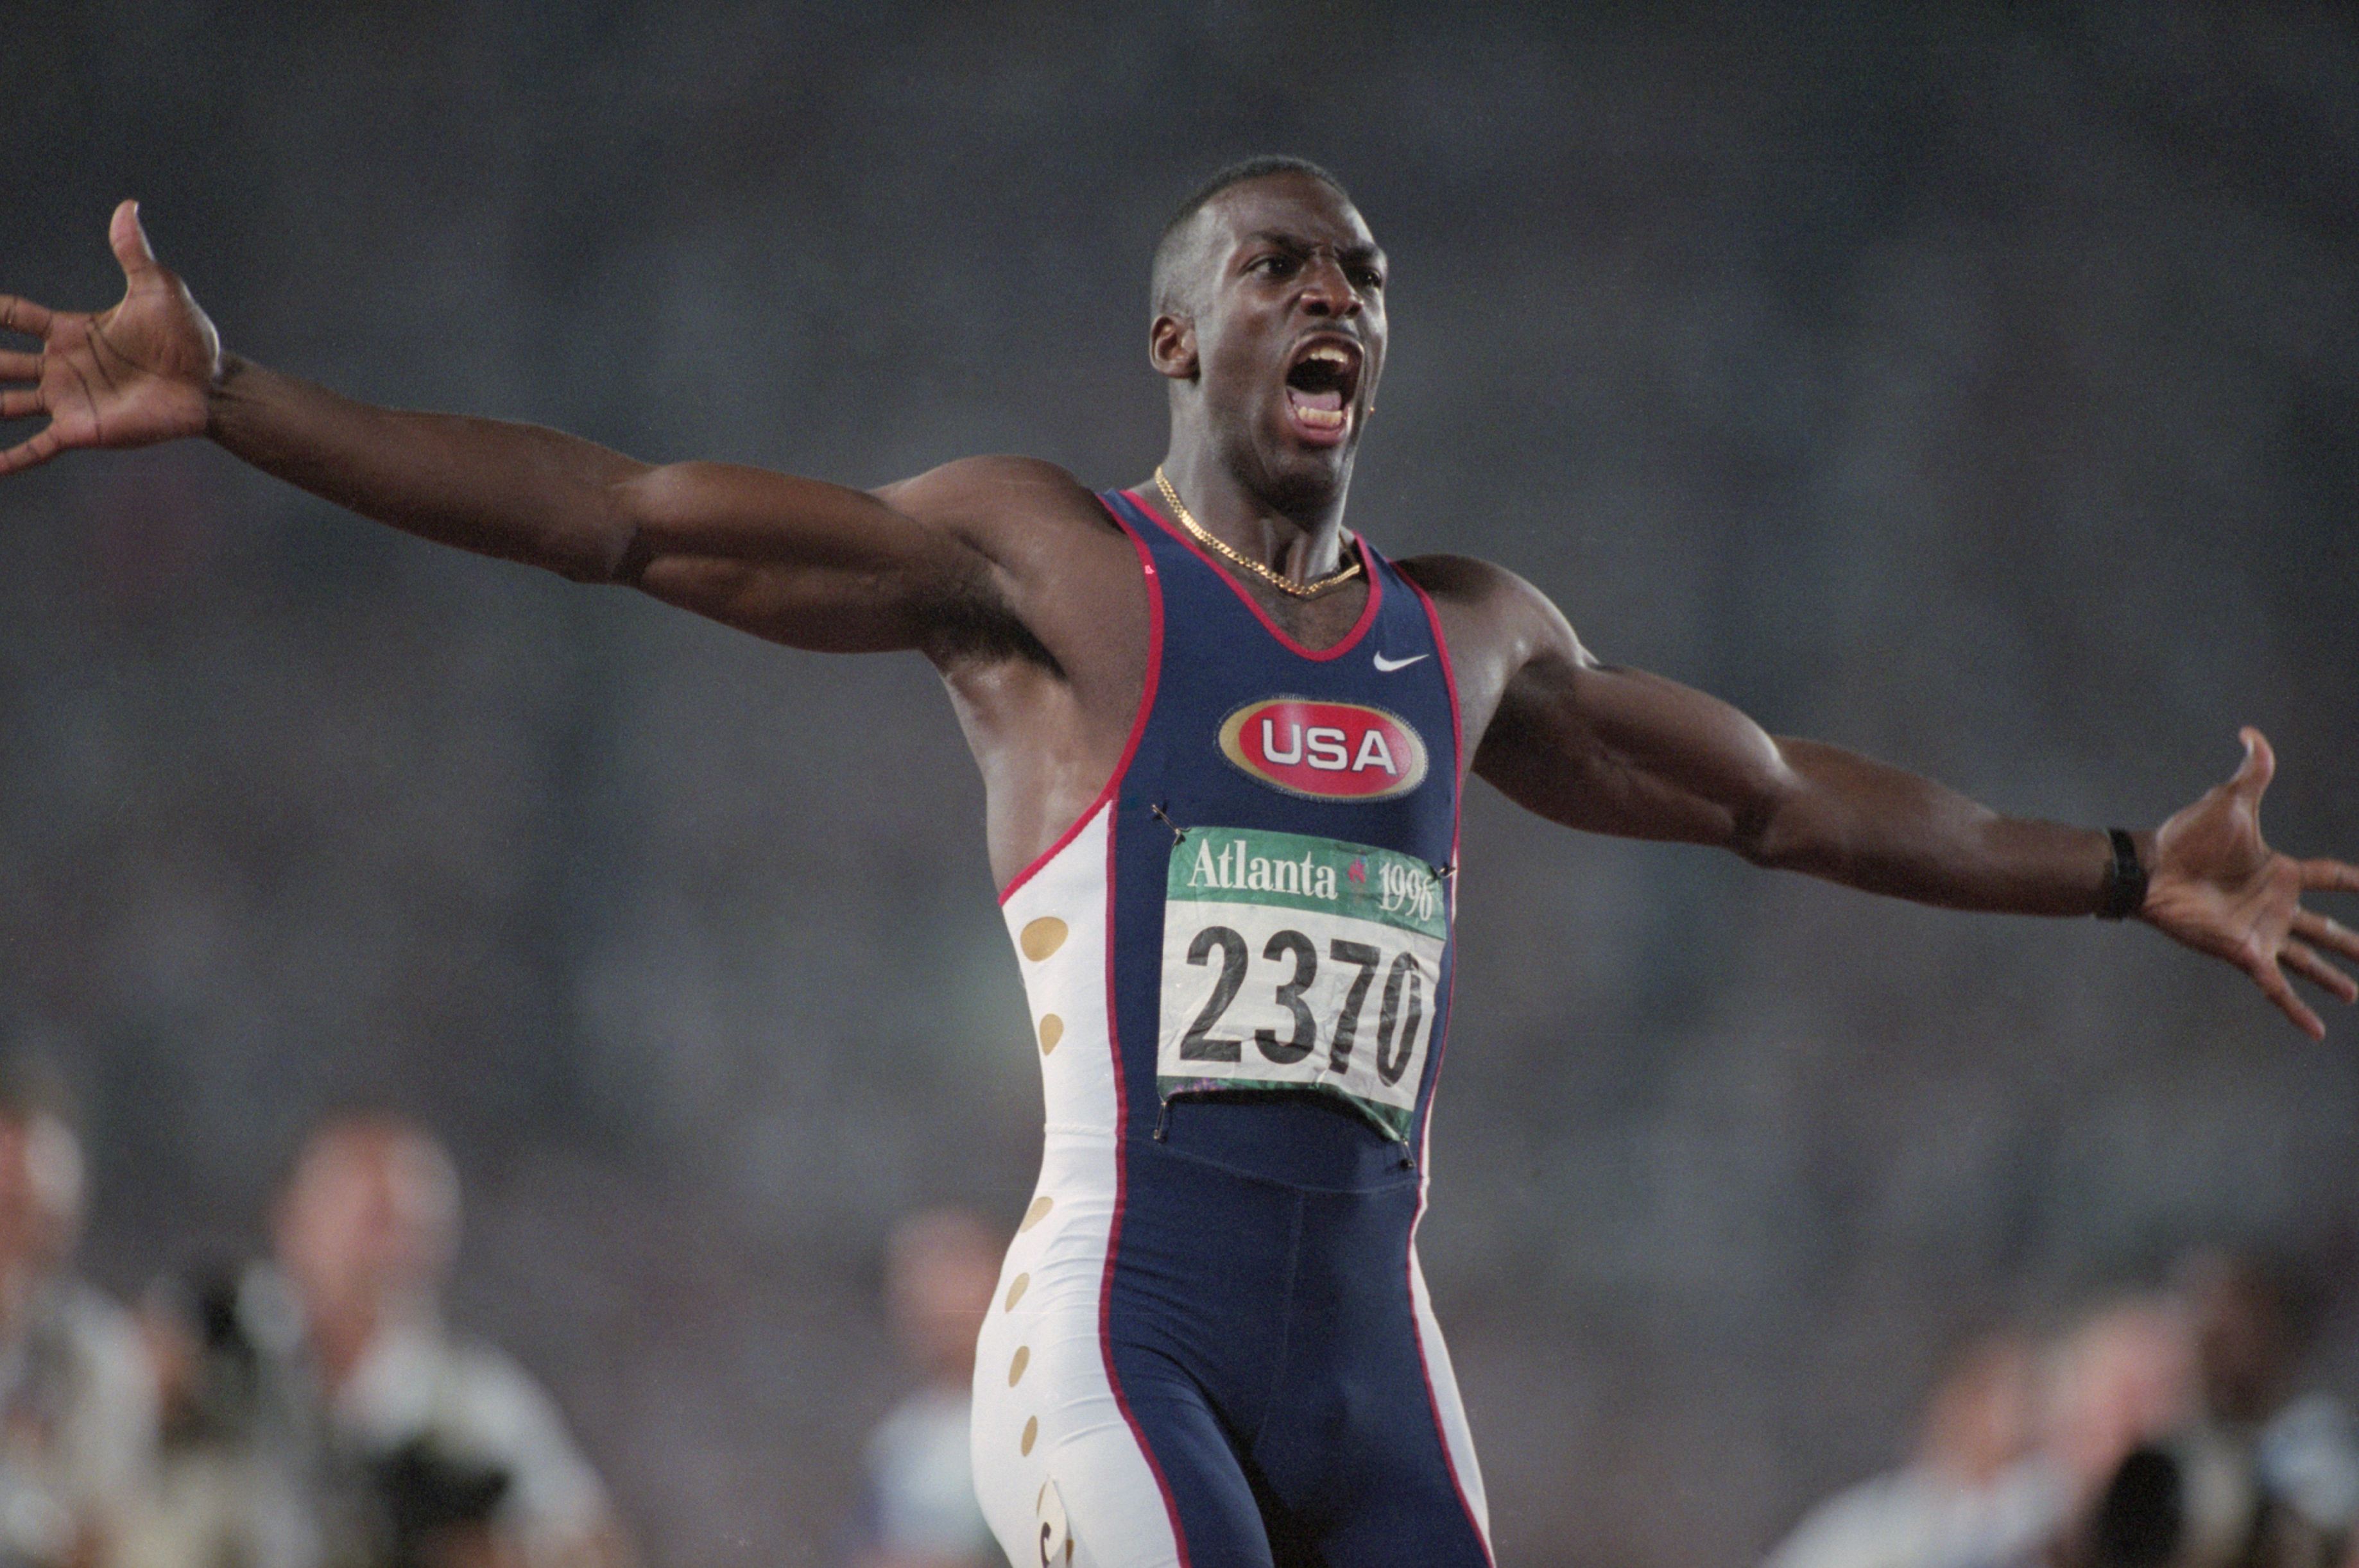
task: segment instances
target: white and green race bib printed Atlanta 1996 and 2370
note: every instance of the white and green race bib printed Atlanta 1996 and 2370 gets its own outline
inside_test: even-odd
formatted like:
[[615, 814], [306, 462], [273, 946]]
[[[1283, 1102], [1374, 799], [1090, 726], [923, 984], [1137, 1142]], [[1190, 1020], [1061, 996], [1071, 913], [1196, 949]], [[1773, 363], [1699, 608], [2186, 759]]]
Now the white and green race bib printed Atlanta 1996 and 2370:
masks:
[[1446, 891], [1425, 861], [1191, 828], [1163, 903], [1158, 1094], [1316, 1089], [1406, 1139], [1446, 943]]

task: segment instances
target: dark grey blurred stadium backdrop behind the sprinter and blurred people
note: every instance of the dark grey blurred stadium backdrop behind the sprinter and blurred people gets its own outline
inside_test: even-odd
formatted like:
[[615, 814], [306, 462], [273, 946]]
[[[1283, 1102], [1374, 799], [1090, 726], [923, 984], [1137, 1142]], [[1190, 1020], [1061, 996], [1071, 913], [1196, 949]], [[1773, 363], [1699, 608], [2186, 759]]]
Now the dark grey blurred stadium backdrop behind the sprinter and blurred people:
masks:
[[[2359, 24], [2340, 5], [7, 7], [0, 288], [120, 196], [344, 391], [880, 483], [1139, 481], [1144, 259], [1255, 151], [1392, 255], [1352, 521], [1599, 655], [2022, 813], [2154, 823], [2260, 724], [2359, 854]], [[24, 429], [19, 427], [21, 436]], [[911, 1205], [1038, 1151], [981, 792], [915, 655], [767, 648], [191, 446], [0, 483], [0, 1007], [90, 1271], [259, 1245], [408, 1108], [458, 1316], [658, 1568], [823, 1561]], [[1477, 785], [1425, 1257], [1500, 1559], [1741, 1568], [1930, 1368], [2196, 1240], [2359, 1391], [2359, 1021], [2151, 931], [1578, 839]], [[2350, 920], [2354, 910], [2345, 910]]]

